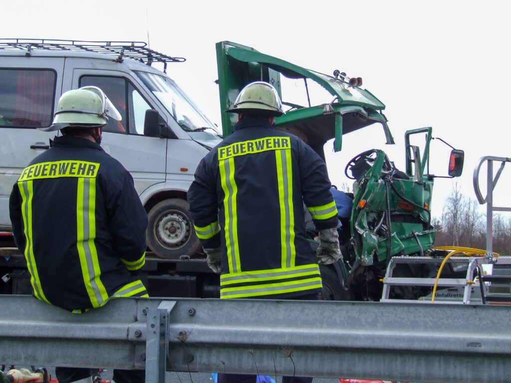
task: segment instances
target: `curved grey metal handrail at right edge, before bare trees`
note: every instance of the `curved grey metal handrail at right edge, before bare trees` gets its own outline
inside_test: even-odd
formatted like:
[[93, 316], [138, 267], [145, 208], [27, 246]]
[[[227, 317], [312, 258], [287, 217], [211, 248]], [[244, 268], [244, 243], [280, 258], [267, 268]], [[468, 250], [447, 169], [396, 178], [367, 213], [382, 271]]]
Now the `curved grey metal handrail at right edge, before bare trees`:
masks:
[[[479, 171], [484, 161], [488, 162], [486, 175], [486, 198], [482, 196], [481, 189], [479, 188]], [[500, 161], [500, 167], [495, 178], [493, 177], [493, 161]], [[504, 170], [506, 162], [511, 162], [511, 158], [485, 156], [479, 159], [479, 164], [474, 169], [473, 182], [477, 201], [479, 201], [480, 205], [486, 203], [486, 251], [489, 253], [493, 251], [493, 212], [511, 211], [511, 207], [493, 206], [493, 190], [497, 185], [497, 181], [500, 178], [502, 170]]]

